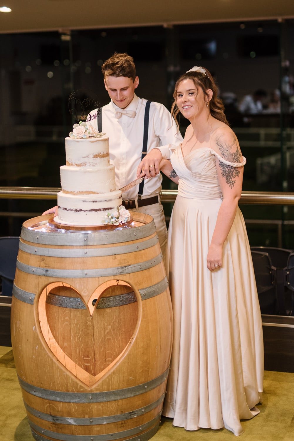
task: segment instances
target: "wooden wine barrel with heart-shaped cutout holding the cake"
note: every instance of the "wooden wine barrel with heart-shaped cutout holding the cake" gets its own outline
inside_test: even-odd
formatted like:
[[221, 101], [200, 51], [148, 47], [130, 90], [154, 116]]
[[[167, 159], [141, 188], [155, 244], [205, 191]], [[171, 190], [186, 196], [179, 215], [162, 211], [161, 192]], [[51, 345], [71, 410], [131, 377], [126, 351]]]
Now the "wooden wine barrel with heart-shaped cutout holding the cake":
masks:
[[[113, 230], [22, 226], [11, 305], [16, 371], [38, 441], [151, 438], [171, 357], [153, 218]], [[48, 223], [49, 220], [49, 223]]]

